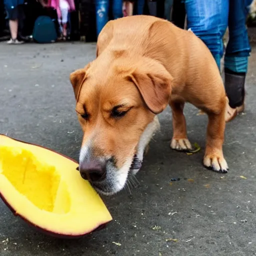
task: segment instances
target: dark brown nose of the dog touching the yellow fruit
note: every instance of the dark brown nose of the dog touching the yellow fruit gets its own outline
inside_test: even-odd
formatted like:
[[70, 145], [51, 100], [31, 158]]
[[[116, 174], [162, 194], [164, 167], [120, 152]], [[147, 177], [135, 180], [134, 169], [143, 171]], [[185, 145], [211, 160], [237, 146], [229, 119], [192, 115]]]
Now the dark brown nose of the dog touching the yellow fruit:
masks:
[[84, 161], [79, 166], [80, 175], [89, 181], [100, 181], [105, 176], [106, 166], [97, 160]]

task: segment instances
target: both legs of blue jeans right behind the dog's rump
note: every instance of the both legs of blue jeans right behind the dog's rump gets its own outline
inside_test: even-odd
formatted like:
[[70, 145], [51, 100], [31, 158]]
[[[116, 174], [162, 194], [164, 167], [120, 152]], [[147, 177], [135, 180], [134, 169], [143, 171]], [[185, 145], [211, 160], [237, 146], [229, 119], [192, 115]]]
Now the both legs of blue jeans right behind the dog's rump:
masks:
[[228, 26], [229, 40], [225, 67], [246, 72], [250, 45], [245, 26], [248, 5], [252, 0], [185, 0], [187, 25], [204, 41], [220, 69], [222, 37]]

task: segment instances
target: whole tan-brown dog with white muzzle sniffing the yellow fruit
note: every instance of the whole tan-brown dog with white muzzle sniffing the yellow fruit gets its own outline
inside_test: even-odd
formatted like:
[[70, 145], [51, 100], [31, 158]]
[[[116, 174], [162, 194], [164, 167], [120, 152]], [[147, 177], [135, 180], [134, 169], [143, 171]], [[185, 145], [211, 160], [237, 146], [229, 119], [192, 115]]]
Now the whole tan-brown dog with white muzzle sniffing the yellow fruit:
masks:
[[[84, 132], [79, 170], [97, 191], [113, 194], [136, 173], [159, 123], [172, 109], [170, 147], [189, 150], [183, 115], [190, 102], [208, 115], [203, 164], [228, 167], [222, 153], [227, 98], [208, 48], [192, 32], [153, 16], [109, 21], [98, 36], [97, 57], [70, 74]], [[134, 160], [135, 159], [135, 160]]]

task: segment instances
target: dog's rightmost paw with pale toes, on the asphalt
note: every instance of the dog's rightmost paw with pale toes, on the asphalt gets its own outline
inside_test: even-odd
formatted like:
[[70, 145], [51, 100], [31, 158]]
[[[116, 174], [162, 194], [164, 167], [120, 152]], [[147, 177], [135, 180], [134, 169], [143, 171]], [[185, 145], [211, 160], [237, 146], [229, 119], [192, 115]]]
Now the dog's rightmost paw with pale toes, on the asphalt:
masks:
[[226, 160], [217, 154], [208, 154], [203, 157], [203, 165], [211, 170], [225, 173], [228, 170]]

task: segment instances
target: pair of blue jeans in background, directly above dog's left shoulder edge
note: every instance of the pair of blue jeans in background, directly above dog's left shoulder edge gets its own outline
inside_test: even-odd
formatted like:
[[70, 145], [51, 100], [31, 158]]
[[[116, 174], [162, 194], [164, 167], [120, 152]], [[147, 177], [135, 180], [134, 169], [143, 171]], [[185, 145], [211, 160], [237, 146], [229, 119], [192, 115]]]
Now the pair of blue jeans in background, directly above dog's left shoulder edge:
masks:
[[[109, 0], [95, 0], [97, 36], [108, 21]], [[122, 17], [122, 0], [112, 2], [113, 18]]]

